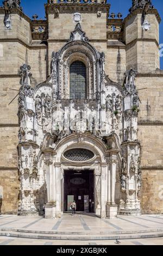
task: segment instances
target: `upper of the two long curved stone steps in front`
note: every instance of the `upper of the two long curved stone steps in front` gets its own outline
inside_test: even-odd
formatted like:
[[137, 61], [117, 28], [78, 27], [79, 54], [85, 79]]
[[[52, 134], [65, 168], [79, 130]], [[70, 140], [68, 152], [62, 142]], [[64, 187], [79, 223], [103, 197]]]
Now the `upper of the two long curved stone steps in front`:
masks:
[[120, 231], [45, 231], [45, 230], [30, 230], [30, 229], [16, 229], [16, 228], [0, 228], [0, 231], [13, 231], [16, 233], [32, 233], [32, 234], [47, 234], [47, 235], [112, 235], [112, 234], [141, 234], [163, 232], [163, 228], [143, 229], [143, 230], [120, 230]]

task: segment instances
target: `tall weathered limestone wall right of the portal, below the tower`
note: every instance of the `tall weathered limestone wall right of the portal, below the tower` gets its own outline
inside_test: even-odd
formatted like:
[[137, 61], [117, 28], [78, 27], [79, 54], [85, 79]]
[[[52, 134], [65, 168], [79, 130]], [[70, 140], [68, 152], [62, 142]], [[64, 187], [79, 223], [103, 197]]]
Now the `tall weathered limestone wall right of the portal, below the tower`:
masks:
[[138, 138], [141, 142], [143, 214], [163, 212], [163, 77], [137, 77], [137, 89], [141, 99]]

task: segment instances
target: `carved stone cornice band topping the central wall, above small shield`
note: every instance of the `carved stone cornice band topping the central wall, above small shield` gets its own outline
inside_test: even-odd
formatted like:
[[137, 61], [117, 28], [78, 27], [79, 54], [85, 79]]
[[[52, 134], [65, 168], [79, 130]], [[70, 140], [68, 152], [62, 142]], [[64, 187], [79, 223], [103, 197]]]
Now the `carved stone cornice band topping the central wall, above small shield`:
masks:
[[105, 11], [109, 15], [110, 4], [98, 3], [55, 3], [45, 4], [46, 14], [54, 14], [54, 9], [57, 8], [60, 13], [72, 13], [81, 11], [82, 13], [95, 13], [97, 10]]

